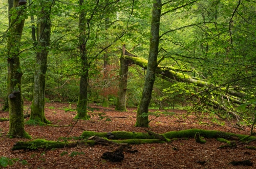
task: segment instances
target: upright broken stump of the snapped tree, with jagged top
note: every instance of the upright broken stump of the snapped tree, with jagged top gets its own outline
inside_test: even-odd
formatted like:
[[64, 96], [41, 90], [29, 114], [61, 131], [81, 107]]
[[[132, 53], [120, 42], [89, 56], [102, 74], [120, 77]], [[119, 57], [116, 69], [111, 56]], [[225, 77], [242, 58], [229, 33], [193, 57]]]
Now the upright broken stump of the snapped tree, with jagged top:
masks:
[[122, 46], [122, 54], [120, 57], [119, 85], [115, 110], [126, 111], [126, 90], [127, 90], [127, 73], [128, 62], [124, 59], [125, 45]]

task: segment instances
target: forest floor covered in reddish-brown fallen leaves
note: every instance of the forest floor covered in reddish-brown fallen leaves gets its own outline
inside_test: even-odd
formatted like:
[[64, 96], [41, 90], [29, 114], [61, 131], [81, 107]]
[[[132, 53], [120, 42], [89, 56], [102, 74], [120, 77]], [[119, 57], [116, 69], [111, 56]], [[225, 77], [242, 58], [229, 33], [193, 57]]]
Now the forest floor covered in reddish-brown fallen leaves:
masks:
[[[31, 102], [25, 102], [25, 112]], [[25, 125], [25, 130], [33, 137], [44, 138], [47, 140], [57, 140], [59, 137], [80, 136], [83, 131], [111, 132], [111, 131], [135, 131], [145, 132], [142, 127], [134, 127], [136, 122], [136, 108], [128, 108], [127, 112], [118, 112], [114, 107], [104, 108], [91, 104], [90, 107], [97, 108], [93, 112], [89, 112], [92, 116], [89, 121], [79, 120], [76, 123], [74, 111], [65, 112], [65, 108], [69, 107], [68, 103], [47, 103], [46, 118], [54, 125], [70, 125], [68, 127], [52, 127], [52, 126], [29, 126]], [[75, 104], [71, 105], [75, 108]], [[154, 111], [154, 110], [152, 110]], [[184, 130], [191, 128], [219, 130], [225, 132], [233, 132], [237, 134], [249, 134], [250, 127], [244, 127], [243, 130], [231, 127], [227, 121], [221, 121], [224, 125], [213, 123], [212, 119], [204, 118], [199, 120], [195, 115], [189, 115], [187, 119], [183, 119], [186, 115], [185, 110], [169, 110], [173, 112], [172, 116], [161, 115], [157, 119], [151, 121], [150, 130], [157, 133], [168, 131]], [[28, 110], [30, 112], [30, 110]], [[97, 112], [104, 112], [111, 121], [101, 120], [97, 116]], [[0, 111], [0, 117], [9, 118], [8, 112]], [[150, 117], [154, 118], [154, 117]], [[26, 121], [28, 118], [26, 119]], [[236, 121], [233, 121], [236, 123]], [[75, 126], [72, 128], [72, 125]], [[9, 122], [0, 122], [0, 157], [18, 158], [14, 165], [7, 168], [255, 168], [256, 166], [256, 150], [245, 149], [243, 145], [237, 148], [217, 149], [224, 143], [217, 142], [216, 139], [207, 139], [206, 144], [198, 144], [194, 138], [188, 140], [175, 140], [171, 143], [164, 144], [143, 144], [132, 145], [133, 150], [137, 153], [124, 152], [124, 160], [121, 162], [110, 162], [102, 159], [104, 152], [115, 150], [117, 147], [95, 145], [81, 145], [75, 148], [63, 148], [55, 150], [34, 150], [34, 151], [11, 151], [12, 146], [19, 140], [27, 140], [23, 138], [10, 139], [6, 136], [8, 133]], [[72, 129], [72, 131], [71, 131]], [[148, 129], [148, 128], [147, 128]], [[71, 132], [70, 132], [71, 131]], [[250, 146], [256, 146], [255, 142], [251, 142]], [[177, 148], [174, 150], [173, 148]], [[67, 152], [61, 156], [61, 153]], [[82, 152], [80, 155], [70, 156], [71, 153]], [[84, 153], [84, 154], [83, 154]], [[251, 159], [252, 166], [237, 165], [233, 166], [229, 162], [242, 161]], [[26, 161], [24, 161], [26, 160]], [[204, 164], [199, 161], [205, 161]], [[26, 163], [27, 164], [22, 164]]]

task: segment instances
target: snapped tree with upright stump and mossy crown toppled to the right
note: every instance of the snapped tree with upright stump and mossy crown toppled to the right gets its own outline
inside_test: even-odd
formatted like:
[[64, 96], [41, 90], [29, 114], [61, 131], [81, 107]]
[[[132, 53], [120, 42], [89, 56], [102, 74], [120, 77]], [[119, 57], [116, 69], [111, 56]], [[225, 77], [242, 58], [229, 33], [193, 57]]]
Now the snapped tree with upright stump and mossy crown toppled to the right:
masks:
[[[138, 57], [136, 54], [131, 53], [129, 50], [122, 47], [122, 55], [120, 60], [125, 64], [120, 64], [120, 70], [126, 70], [125, 72], [120, 71], [120, 77], [122, 79], [119, 81], [119, 92], [118, 92], [118, 100], [116, 105], [116, 110], [125, 111], [125, 98], [126, 98], [126, 87], [127, 87], [127, 70], [130, 65], [136, 64], [142, 67], [143, 70], [147, 69], [148, 61], [141, 57]], [[182, 70], [181, 68], [173, 67], [173, 66], [162, 66], [160, 65], [161, 59], [158, 61], [158, 65], [156, 68], [156, 76], [162, 78], [166, 81], [169, 81], [171, 84], [176, 82], [185, 82], [194, 84], [194, 86], [190, 87], [187, 99], [194, 99], [194, 108], [198, 108], [200, 106], [206, 105], [207, 108], [214, 108], [219, 110], [219, 112], [225, 112], [225, 115], [229, 114], [236, 117], [238, 122], [240, 116], [244, 116], [243, 112], [236, 109], [241, 104], [245, 104], [249, 99], [252, 99], [254, 95], [246, 93], [246, 89], [234, 86], [232, 87], [229, 83], [225, 83], [223, 85], [212, 85], [207, 79], [200, 79], [198, 77], [193, 77], [186, 72], [189, 70]], [[191, 70], [195, 71], [196, 70]], [[172, 88], [170, 88], [172, 90]], [[199, 99], [200, 98], [200, 99]], [[120, 101], [122, 100], [122, 101]], [[195, 101], [196, 100], [196, 101]], [[199, 109], [200, 111], [200, 109]], [[219, 115], [219, 117], [224, 116], [224, 114]], [[137, 118], [142, 115], [137, 115]]]

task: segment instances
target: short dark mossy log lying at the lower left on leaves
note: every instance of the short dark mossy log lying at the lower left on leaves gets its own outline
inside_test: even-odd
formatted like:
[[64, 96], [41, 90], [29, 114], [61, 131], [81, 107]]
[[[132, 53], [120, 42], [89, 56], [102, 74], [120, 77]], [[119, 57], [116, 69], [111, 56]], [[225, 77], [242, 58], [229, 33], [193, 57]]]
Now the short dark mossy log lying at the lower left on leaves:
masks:
[[71, 148], [76, 147], [77, 142], [56, 142], [45, 139], [35, 139], [29, 142], [17, 142], [11, 150], [35, 150], [35, 149], [52, 149], [52, 148]]

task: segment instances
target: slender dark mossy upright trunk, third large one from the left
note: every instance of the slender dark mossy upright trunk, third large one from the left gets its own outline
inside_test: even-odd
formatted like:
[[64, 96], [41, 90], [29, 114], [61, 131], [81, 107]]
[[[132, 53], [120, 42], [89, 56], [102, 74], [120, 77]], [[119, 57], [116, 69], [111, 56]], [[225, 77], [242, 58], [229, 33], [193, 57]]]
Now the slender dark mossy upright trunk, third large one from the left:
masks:
[[[82, 7], [84, 0], [79, 0], [79, 6]], [[79, 52], [81, 59], [81, 76], [80, 76], [80, 89], [77, 103], [77, 115], [74, 119], [89, 120], [87, 115], [87, 87], [88, 87], [88, 57], [86, 50], [86, 11], [84, 9], [79, 15]]]

